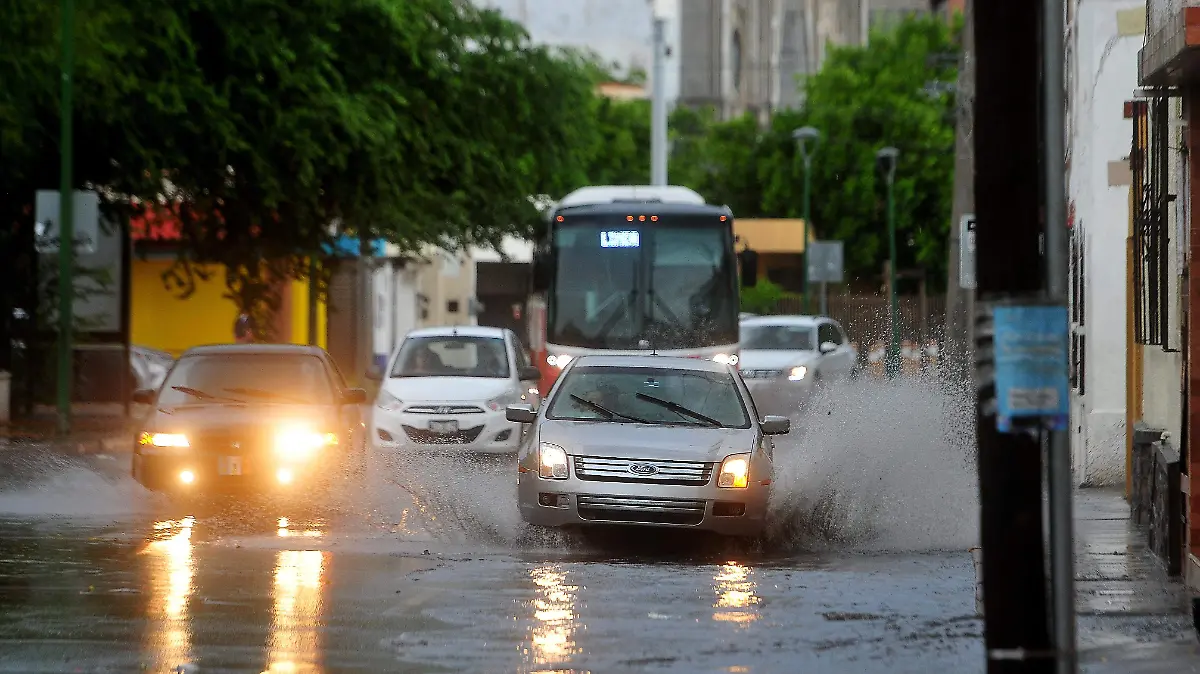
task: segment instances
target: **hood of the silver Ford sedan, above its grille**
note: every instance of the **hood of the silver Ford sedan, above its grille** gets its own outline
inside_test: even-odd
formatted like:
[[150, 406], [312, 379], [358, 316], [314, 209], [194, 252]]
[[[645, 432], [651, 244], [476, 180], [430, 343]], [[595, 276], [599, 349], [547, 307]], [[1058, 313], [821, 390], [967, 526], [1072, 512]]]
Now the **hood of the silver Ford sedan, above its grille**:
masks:
[[754, 428], [692, 428], [611, 421], [554, 421], [541, 425], [540, 440], [572, 456], [629, 459], [721, 461], [754, 451]]

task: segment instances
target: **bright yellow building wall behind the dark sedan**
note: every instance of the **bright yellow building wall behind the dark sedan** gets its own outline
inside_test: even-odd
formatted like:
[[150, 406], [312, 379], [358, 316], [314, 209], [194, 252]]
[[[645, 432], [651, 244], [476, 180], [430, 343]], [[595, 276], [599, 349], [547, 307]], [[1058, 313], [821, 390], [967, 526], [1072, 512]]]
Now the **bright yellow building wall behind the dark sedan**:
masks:
[[[196, 291], [180, 299], [179, 291], [168, 289], [162, 281], [174, 260], [134, 260], [131, 270], [131, 337], [138, 345], [162, 349], [173, 355], [199, 344], [222, 344], [233, 341], [233, 324], [238, 308], [222, 295], [226, 293], [224, 271], [211, 266], [209, 281], [197, 278]], [[292, 339], [308, 341], [308, 283], [292, 284]], [[325, 305], [318, 305], [318, 341], [325, 345]]]

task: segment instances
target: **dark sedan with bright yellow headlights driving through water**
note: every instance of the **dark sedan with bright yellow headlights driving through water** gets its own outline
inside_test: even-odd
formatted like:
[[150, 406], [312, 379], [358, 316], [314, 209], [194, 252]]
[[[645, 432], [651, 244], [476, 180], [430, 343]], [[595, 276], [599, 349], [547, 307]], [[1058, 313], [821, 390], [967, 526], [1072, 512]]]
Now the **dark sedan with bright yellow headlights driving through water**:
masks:
[[318, 347], [196, 347], [133, 397], [154, 405], [132, 467], [150, 489], [322, 486], [362, 457], [366, 392]]

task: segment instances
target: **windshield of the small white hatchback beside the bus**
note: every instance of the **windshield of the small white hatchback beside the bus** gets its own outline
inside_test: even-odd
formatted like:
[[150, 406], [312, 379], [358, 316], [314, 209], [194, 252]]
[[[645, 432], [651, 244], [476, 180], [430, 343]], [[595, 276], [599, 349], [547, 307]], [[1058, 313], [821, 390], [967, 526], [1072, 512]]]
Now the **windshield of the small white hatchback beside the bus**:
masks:
[[464, 335], [409, 337], [391, 368], [391, 377], [504, 379], [508, 375], [503, 338]]

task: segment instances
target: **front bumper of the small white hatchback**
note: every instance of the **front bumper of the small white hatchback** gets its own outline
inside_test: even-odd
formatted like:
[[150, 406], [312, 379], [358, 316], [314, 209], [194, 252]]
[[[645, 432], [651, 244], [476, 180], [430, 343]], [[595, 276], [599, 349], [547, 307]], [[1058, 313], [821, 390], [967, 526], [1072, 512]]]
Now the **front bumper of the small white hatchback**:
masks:
[[[431, 422], [455, 422], [458, 431], [432, 431]], [[371, 441], [382, 450], [438, 450], [480, 453], [512, 453], [521, 446], [521, 425], [504, 410], [433, 415], [388, 411], [374, 408]]]

